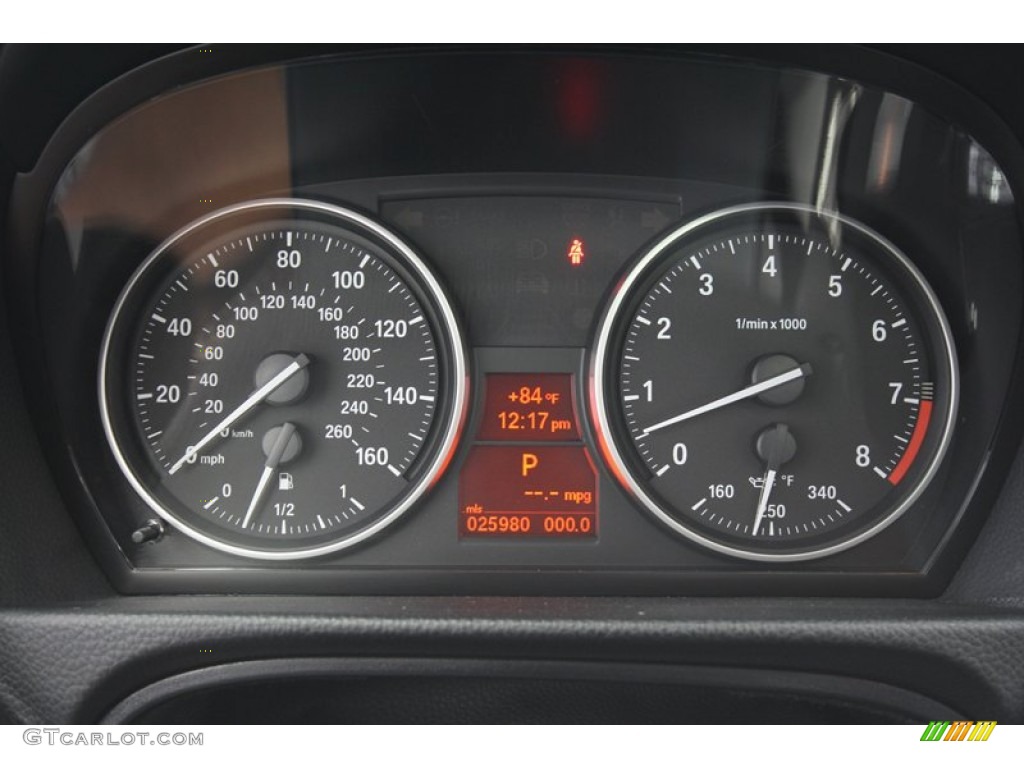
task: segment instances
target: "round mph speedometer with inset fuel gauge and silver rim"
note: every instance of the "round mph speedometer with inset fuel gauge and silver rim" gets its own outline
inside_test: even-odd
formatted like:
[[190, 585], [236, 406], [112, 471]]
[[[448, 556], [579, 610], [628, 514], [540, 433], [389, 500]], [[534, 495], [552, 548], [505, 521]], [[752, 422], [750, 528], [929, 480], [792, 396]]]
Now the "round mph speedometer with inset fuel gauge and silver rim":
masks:
[[126, 477], [212, 546], [305, 557], [407, 511], [450, 456], [463, 343], [424, 263], [344, 209], [258, 201], [139, 268], [103, 345], [100, 399]]

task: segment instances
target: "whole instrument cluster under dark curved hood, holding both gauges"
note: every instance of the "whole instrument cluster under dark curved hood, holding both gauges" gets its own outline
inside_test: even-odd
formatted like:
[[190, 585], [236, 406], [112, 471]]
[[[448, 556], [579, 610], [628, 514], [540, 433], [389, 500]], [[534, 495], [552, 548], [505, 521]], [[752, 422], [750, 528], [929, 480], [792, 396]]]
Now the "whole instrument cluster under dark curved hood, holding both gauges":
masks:
[[933, 590], [1019, 342], [983, 145], [799, 70], [455, 58], [510, 100], [338, 56], [63, 142], [39, 365], [121, 585]]

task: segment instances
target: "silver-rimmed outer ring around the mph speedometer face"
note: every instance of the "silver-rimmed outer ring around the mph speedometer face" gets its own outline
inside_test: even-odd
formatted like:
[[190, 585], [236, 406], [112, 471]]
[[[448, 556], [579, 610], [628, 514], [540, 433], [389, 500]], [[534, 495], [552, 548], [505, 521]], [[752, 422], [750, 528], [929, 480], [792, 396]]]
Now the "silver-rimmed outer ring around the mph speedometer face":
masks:
[[[420, 455], [407, 473], [409, 486], [389, 506], [367, 515], [367, 522], [342, 531], [273, 540], [232, 536], [160, 493], [159, 470], [139, 438], [126, 393], [125, 371], [138, 339], [139, 312], [183, 265], [206, 253], [204, 246], [230, 239], [232, 232], [294, 221], [315, 221], [342, 229], [366, 243], [409, 286], [430, 324], [437, 348], [438, 402]], [[314, 200], [268, 198], [229, 206], [204, 216], [162, 243], [129, 279], [111, 313], [99, 355], [100, 420], [114, 459], [138, 497], [166, 522], [190, 538], [222, 552], [267, 560], [295, 560], [326, 555], [368, 541], [396, 522], [439, 479], [457, 449], [466, 418], [468, 369], [461, 324], [447, 293], [428, 264], [397, 234], [351, 209]]]

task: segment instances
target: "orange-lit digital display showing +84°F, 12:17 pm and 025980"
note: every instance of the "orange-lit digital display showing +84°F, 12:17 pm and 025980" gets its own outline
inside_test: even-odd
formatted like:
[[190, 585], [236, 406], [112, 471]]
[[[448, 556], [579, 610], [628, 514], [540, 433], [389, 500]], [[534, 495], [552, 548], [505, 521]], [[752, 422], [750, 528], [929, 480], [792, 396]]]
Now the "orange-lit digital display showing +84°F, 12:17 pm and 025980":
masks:
[[570, 374], [488, 374], [477, 442], [459, 477], [459, 535], [597, 535], [597, 473]]

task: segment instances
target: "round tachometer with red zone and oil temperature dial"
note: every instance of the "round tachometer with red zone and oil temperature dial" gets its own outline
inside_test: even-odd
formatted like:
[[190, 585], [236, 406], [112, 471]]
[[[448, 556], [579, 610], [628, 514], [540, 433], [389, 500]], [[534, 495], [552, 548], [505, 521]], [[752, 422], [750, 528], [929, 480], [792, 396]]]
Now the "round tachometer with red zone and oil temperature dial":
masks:
[[902, 514], [948, 443], [956, 368], [922, 275], [866, 227], [795, 206], [713, 214], [621, 284], [593, 358], [606, 458], [662, 521], [798, 560]]

